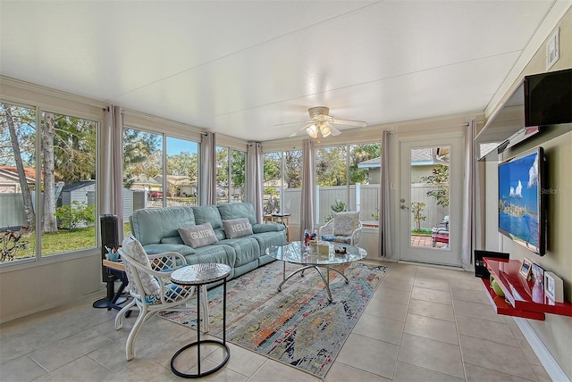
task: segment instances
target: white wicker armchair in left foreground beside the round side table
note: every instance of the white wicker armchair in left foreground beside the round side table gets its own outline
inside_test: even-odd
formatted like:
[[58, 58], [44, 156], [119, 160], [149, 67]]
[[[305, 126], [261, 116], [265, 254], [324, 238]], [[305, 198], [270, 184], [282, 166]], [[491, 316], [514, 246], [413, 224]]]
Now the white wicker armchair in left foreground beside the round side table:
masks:
[[[187, 307], [194, 296], [195, 286], [178, 286], [169, 278], [173, 270], [186, 266], [187, 262], [181, 253], [167, 252], [147, 255], [143, 246], [132, 236], [123, 240], [119, 249], [125, 272], [129, 279], [132, 301], [128, 303], [115, 317], [115, 330], [122, 328], [122, 320], [127, 311], [139, 308], [139, 317], [133, 324], [125, 345], [127, 361], [135, 356], [135, 338], [145, 321], [158, 311], [190, 311], [195, 306]], [[203, 313], [203, 329], [208, 331], [208, 300], [206, 287], [201, 287], [201, 312]], [[199, 324], [199, 320], [198, 320]], [[199, 328], [198, 328], [199, 329]]]

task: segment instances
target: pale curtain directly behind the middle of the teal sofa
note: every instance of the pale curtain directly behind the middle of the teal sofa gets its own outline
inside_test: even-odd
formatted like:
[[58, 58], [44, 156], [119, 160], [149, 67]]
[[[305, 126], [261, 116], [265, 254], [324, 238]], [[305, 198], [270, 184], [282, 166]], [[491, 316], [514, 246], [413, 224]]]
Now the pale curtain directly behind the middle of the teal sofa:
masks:
[[200, 204], [216, 204], [216, 137], [206, 132], [200, 143]]

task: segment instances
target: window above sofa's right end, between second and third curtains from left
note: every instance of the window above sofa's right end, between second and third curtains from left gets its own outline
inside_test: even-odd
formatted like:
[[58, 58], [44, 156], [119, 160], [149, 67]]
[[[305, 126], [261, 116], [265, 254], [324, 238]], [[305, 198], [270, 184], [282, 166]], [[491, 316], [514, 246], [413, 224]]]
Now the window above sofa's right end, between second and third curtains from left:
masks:
[[216, 147], [216, 203], [244, 202], [247, 154]]

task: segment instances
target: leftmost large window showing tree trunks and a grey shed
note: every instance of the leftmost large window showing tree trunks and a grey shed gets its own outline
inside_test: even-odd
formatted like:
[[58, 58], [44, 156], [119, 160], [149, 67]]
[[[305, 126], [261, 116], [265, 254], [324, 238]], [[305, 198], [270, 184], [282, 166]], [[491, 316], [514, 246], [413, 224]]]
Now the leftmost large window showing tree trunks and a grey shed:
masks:
[[0, 114], [1, 261], [96, 247], [97, 121], [15, 104]]

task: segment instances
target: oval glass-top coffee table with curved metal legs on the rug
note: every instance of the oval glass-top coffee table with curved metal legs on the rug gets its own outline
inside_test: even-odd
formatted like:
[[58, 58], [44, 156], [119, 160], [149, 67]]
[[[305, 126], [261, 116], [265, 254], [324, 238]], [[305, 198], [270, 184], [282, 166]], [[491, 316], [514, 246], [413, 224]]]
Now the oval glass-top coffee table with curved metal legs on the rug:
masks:
[[[320, 254], [318, 251], [310, 252], [310, 247], [305, 246], [301, 241], [286, 243], [285, 245], [271, 245], [266, 249], [266, 254], [272, 256], [276, 260], [283, 262], [282, 269], [282, 282], [278, 286], [278, 291], [282, 291], [282, 286], [292, 276], [300, 274], [304, 276], [304, 271], [307, 269], [315, 269], [320, 277], [324, 280], [325, 289], [328, 293], [328, 301], [332, 303], [332, 292], [330, 291], [330, 270], [337, 272], [346, 280], [348, 278], [343, 274], [343, 271], [333, 268], [334, 265], [347, 264], [349, 262], [357, 262], [367, 256], [367, 252], [363, 248], [343, 243], [332, 242], [318, 242], [319, 245], [328, 245], [328, 253]], [[345, 253], [336, 253], [344, 251]], [[299, 270], [295, 270], [290, 275], [286, 276], [286, 262], [302, 265]], [[325, 269], [325, 275], [322, 270]]]

